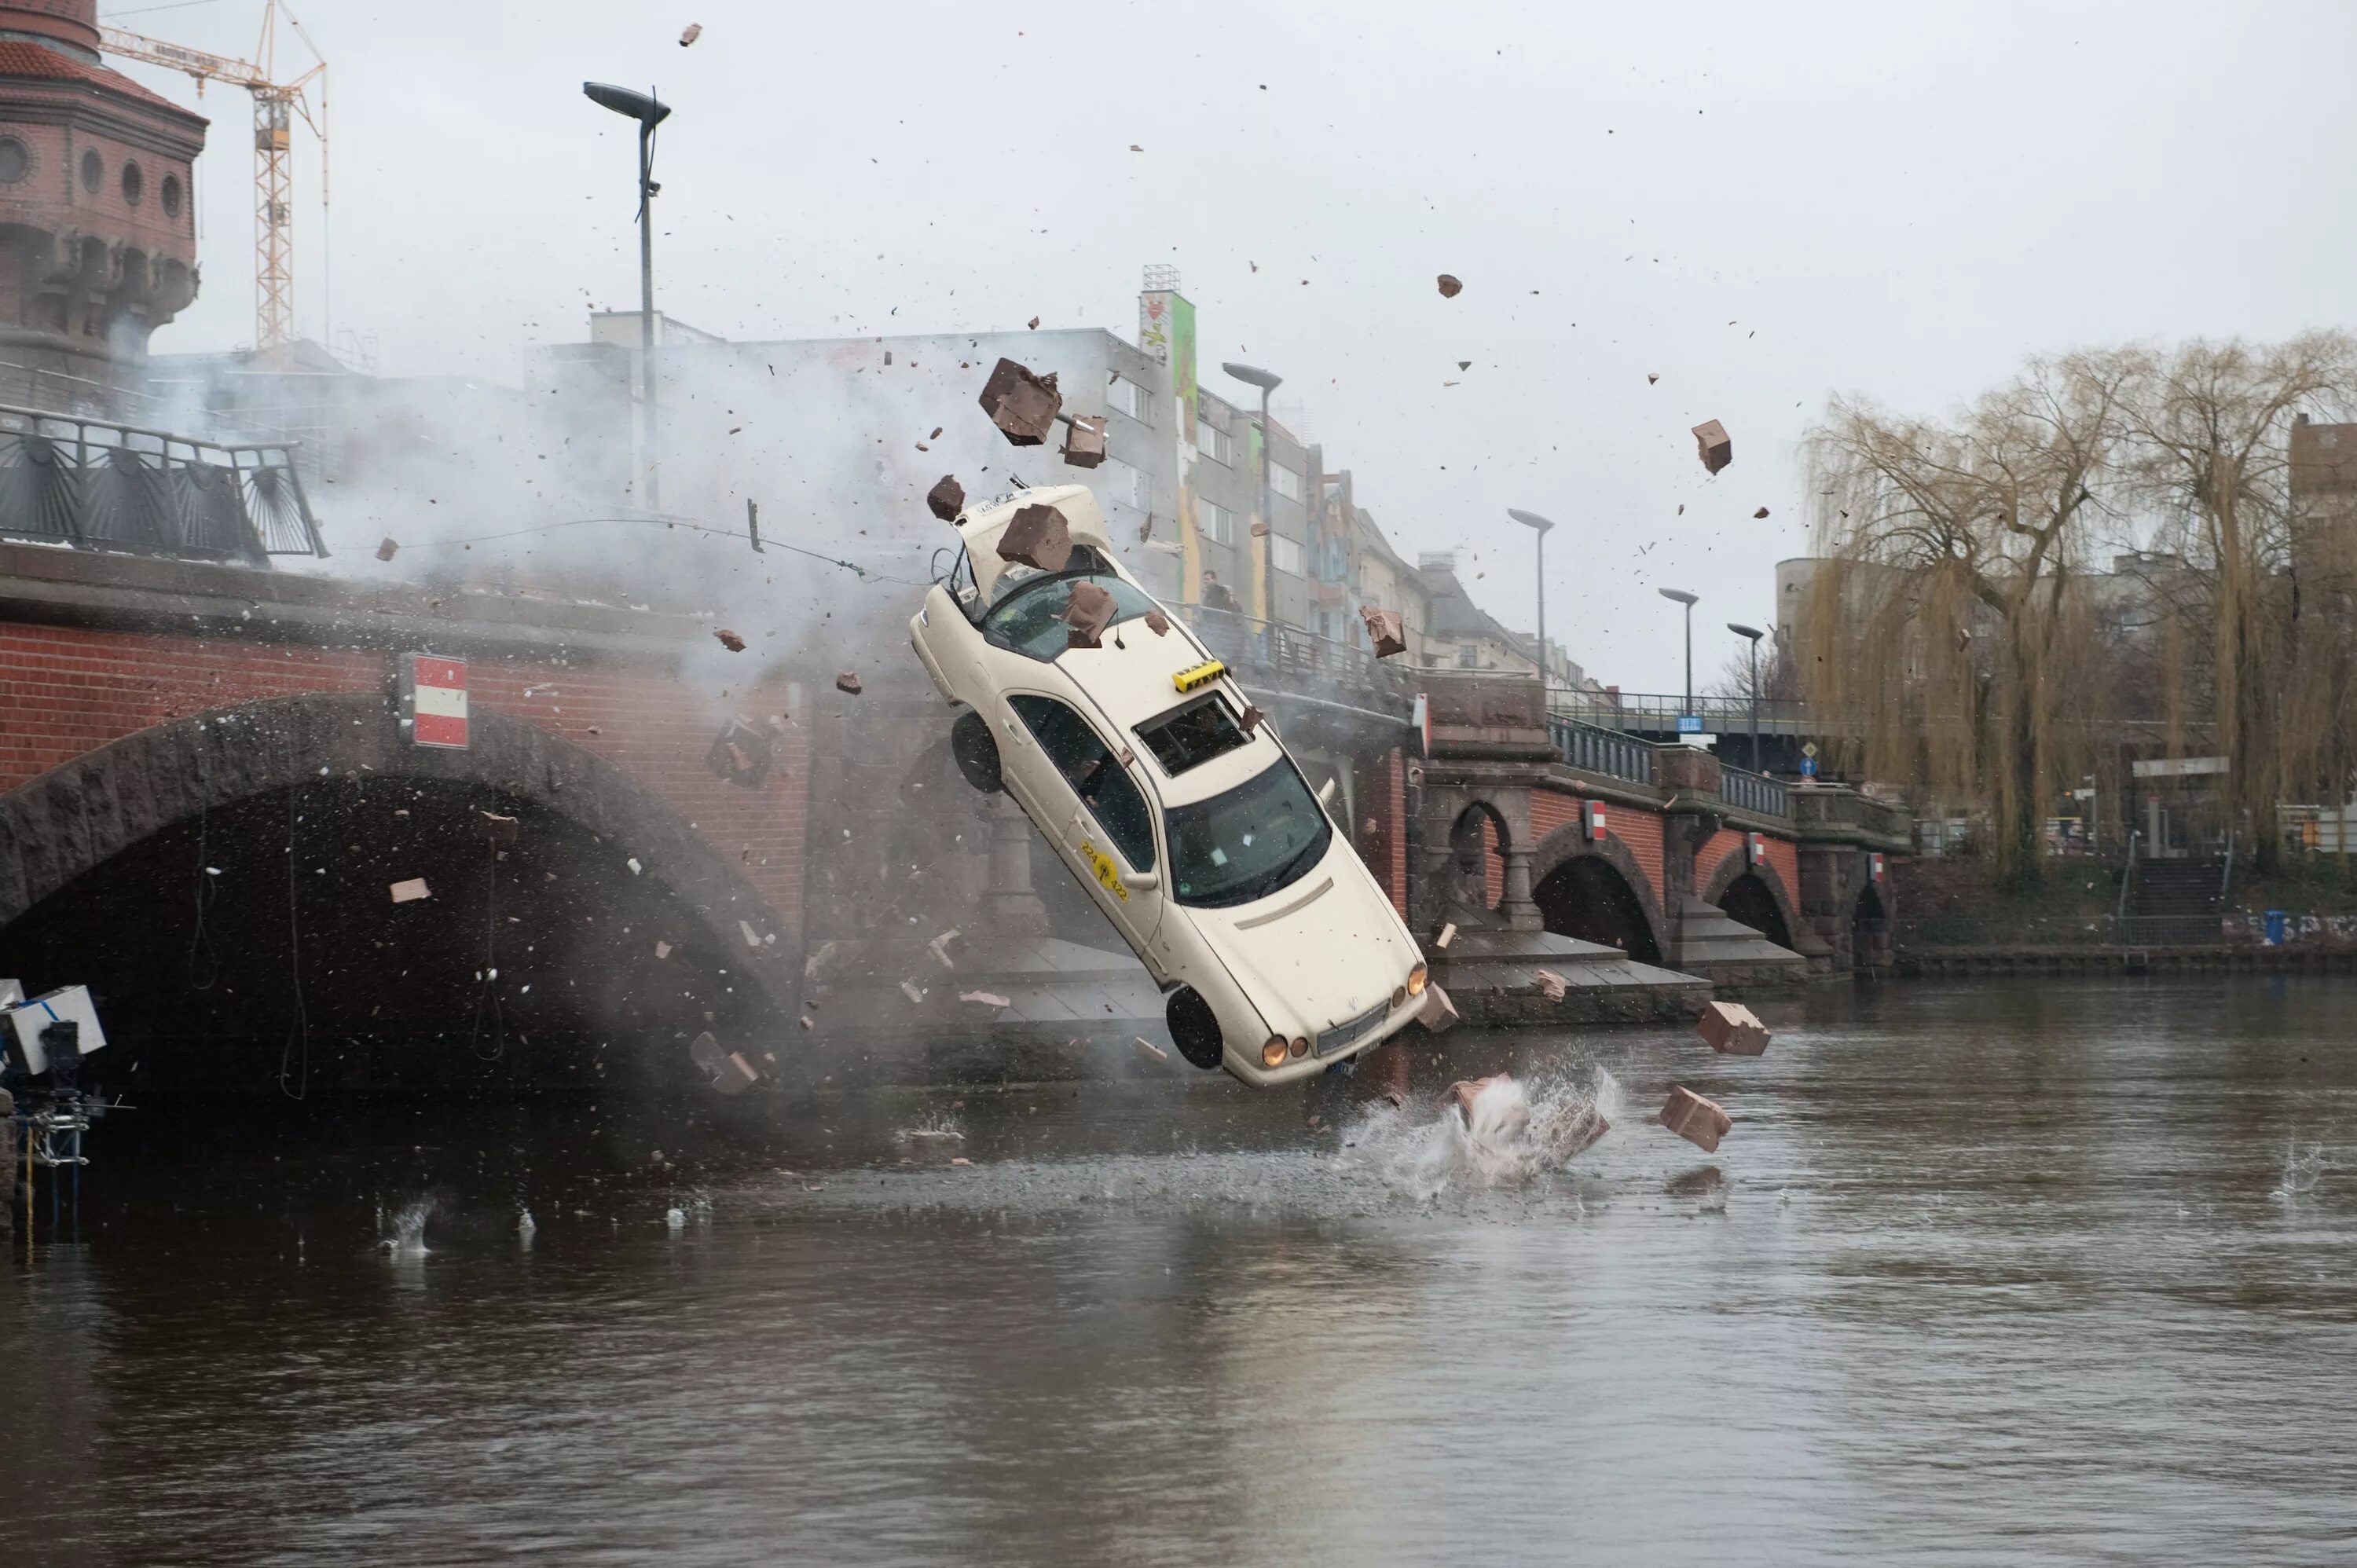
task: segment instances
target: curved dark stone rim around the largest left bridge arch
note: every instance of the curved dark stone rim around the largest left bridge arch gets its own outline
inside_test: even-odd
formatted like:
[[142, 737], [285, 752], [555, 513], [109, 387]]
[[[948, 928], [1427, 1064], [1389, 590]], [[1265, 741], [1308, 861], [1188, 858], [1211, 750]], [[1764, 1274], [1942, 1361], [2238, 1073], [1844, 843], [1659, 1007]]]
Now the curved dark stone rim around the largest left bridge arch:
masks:
[[785, 931], [693, 823], [618, 764], [528, 719], [478, 712], [467, 750], [410, 745], [379, 693], [297, 696], [200, 712], [92, 747], [0, 795], [0, 931], [125, 849], [295, 785], [382, 778], [478, 785], [528, 802], [639, 858], [693, 915], [733, 974], [785, 1012], [799, 943], [754, 953], [738, 922]]

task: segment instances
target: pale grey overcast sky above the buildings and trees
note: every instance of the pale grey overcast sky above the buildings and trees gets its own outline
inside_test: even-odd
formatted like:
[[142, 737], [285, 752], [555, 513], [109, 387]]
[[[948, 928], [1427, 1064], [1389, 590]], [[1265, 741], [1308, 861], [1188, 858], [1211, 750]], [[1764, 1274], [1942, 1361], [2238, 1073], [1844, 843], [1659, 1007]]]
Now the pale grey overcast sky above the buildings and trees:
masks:
[[[1725, 620], [1775, 620], [1829, 394], [1942, 410], [2032, 351], [2357, 314], [2348, 2], [297, 14], [335, 113], [325, 236], [297, 141], [306, 335], [514, 384], [592, 304], [634, 309], [632, 127], [580, 83], [655, 85], [662, 309], [731, 337], [1129, 335], [1141, 264], [1174, 262], [1204, 382], [1247, 396], [1221, 358], [1285, 375], [1280, 413], [1393, 542], [1457, 547], [1508, 625], [1532, 585], [1504, 509], [1553, 516], [1549, 630], [1626, 689], [1681, 679], [1655, 587], [1702, 594], [1704, 679]], [[259, 17], [104, 12], [229, 54]], [[299, 57], [280, 38], [280, 73]], [[205, 295], [158, 351], [252, 340], [247, 99], [198, 106]], [[1716, 481], [1706, 417], [1735, 436]]]

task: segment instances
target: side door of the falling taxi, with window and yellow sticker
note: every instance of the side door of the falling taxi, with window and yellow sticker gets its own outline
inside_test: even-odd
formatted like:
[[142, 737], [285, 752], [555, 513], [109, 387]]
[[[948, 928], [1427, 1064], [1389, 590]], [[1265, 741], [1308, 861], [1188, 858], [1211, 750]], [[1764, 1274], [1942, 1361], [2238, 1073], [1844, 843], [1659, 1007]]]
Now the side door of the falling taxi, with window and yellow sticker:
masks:
[[1011, 693], [1006, 705], [1030, 738], [1016, 750], [1025, 785], [1037, 795], [1032, 821], [1153, 969], [1148, 943], [1162, 922], [1162, 856], [1157, 811], [1138, 780], [1136, 757], [1124, 759], [1070, 703]]

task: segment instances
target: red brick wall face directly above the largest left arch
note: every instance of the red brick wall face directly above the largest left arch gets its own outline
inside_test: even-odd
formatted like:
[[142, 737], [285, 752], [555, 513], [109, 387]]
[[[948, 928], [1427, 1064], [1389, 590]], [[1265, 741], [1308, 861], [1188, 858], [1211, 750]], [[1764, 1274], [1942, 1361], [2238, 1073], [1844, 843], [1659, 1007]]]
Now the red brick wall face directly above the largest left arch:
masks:
[[[391, 691], [394, 655], [49, 625], [0, 625], [0, 792], [151, 724], [245, 703]], [[665, 672], [471, 658], [469, 705], [596, 752], [679, 811], [801, 938], [808, 722], [785, 681], [714, 703]], [[832, 696], [832, 693], [830, 693]], [[787, 719], [757, 790], [705, 771], [726, 717]]]

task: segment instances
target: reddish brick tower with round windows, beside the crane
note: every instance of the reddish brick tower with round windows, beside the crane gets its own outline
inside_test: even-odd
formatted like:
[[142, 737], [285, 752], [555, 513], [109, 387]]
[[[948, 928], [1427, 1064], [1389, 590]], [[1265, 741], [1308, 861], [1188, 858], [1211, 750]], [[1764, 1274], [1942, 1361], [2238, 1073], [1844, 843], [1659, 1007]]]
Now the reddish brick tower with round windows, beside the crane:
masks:
[[97, 0], [0, 0], [0, 403], [137, 420], [196, 299], [203, 116], [99, 64]]

